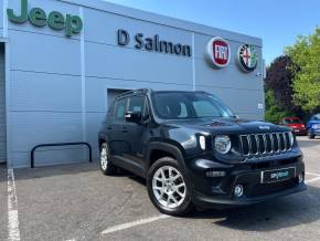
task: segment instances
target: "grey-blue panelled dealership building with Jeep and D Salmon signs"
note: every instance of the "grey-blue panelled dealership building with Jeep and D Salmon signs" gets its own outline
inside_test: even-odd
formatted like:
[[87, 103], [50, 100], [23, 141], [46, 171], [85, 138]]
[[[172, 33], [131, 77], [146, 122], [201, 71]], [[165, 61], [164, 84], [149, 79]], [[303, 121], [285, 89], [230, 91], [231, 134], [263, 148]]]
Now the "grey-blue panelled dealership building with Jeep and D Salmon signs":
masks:
[[[30, 167], [40, 144], [88, 143], [111, 101], [136, 88], [206, 91], [264, 118], [262, 40], [100, 0], [1, 0], [0, 161]], [[39, 148], [35, 166], [86, 161]]]

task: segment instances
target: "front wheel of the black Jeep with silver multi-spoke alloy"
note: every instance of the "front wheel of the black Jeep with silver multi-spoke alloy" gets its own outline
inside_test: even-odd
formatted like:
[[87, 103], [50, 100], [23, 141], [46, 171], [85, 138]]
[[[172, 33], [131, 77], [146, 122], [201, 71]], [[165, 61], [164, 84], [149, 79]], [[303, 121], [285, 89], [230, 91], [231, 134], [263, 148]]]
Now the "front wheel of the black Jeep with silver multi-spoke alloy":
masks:
[[177, 160], [164, 157], [157, 160], [147, 177], [148, 193], [152, 203], [170, 216], [182, 216], [193, 208], [186, 176]]

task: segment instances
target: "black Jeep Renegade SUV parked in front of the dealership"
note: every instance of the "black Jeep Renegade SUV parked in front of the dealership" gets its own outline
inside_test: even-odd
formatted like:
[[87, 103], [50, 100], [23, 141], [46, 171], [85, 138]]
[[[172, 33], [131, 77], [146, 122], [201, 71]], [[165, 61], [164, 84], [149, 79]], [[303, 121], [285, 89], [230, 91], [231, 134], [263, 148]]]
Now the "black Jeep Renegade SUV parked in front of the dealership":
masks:
[[120, 167], [146, 178], [163, 213], [250, 205], [306, 189], [302, 154], [289, 128], [241, 119], [205, 92], [128, 92], [106, 119], [102, 171]]

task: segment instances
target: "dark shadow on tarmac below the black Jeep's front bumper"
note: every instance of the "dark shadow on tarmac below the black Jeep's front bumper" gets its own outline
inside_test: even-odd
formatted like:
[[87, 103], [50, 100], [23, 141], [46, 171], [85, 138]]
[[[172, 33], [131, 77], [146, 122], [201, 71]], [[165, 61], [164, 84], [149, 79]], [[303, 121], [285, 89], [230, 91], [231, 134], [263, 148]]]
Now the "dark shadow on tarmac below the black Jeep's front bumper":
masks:
[[320, 219], [320, 189], [308, 190], [253, 206], [202, 210], [188, 216], [190, 219], [214, 219], [214, 226], [244, 231], [275, 231], [284, 228], [312, 223]]

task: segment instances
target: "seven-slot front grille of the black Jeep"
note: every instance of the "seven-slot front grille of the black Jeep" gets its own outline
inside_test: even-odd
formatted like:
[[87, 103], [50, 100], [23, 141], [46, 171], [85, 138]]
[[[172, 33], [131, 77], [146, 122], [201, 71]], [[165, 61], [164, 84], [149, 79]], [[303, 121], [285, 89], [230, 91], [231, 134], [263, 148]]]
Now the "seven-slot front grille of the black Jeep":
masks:
[[289, 132], [239, 135], [244, 156], [281, 154], [292, 148]]

